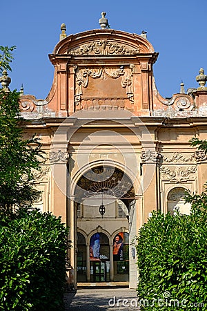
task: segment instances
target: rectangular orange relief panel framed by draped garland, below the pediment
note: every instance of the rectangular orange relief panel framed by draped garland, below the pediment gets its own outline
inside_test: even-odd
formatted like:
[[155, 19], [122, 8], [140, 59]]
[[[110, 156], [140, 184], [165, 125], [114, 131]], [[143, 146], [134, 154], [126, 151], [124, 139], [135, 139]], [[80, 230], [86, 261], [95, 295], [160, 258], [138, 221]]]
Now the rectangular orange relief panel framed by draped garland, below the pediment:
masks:
[[[106, 102], [107, 104], [118, 104], [117, 106], [119, 106], [121, 102], [124, 103], [124, 100], [133, 104], [132, 74], [133, 65], [126, 68], [124, 66], [118, 68], [77, 67], [75, 70], [75, 106], [84, 109], [88, 108], [88, 106], [100, 106], [106, 104]], [[117, 79], [116, 83], [114, 79]], [[88, 92], [84, 91], [84, 89], [88, 89]], [[97, 89], [99, 90], [98, 93]], [[87, 104], [84, 106], [83, 102], [87, 102]], [[124, 108], [124, 105], [121, 108]]]

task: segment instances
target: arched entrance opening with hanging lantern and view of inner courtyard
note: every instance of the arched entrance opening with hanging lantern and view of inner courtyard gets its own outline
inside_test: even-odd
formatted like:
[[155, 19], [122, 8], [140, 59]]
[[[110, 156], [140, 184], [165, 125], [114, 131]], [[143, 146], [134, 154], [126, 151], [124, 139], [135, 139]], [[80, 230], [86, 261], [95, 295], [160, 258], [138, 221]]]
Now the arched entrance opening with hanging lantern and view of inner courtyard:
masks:
[[[135, 205], [132, 181], [121, 169], [99, 165], [79, 178], [75, 187], [75, 221], [77, 230], [87, 237], [86, 281], [80, 277], [77, 256], [78, 282], [128, 284], [130, 267], [131, 277], [137, 280], [136, 259], [130, 256], [130, 243], [137, 232]], [[78, 236], [78, 255], [83, 249], [79, 241]]]

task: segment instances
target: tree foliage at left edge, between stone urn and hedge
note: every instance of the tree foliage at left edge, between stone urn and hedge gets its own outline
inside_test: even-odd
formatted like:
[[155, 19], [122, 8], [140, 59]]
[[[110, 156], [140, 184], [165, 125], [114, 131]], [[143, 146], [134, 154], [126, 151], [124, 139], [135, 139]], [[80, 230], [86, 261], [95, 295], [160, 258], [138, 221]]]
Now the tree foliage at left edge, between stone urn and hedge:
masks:
[[31, 205], [39, 191], [34, 189], [34, 169], [43, 157], [39, 140], [23, 139], [19, 93], [0, 92], [0, 210]]

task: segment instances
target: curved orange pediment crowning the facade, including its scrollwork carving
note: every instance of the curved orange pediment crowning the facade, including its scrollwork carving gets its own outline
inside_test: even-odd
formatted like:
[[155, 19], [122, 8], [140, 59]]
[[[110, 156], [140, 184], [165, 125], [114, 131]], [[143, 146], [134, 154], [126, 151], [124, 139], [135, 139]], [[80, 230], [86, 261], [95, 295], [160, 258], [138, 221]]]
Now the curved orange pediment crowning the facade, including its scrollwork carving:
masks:
[[119, 30], [89, 30], [69, 35], [59, 41], [53, 54], [72, 56], [116, 56], [154, 53], [150, 42], [143, 37]]

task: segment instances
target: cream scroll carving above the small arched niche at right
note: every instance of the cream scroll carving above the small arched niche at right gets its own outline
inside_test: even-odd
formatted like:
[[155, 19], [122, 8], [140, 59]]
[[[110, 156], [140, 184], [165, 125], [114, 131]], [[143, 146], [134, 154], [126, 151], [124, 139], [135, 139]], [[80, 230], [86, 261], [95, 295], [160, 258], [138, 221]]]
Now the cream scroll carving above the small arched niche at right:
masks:
[[183, 166], [161, 166], [161, 175], [163, 180], [170, 182], [186, 182], [187, 180], [195, 180], [197, 165]]

